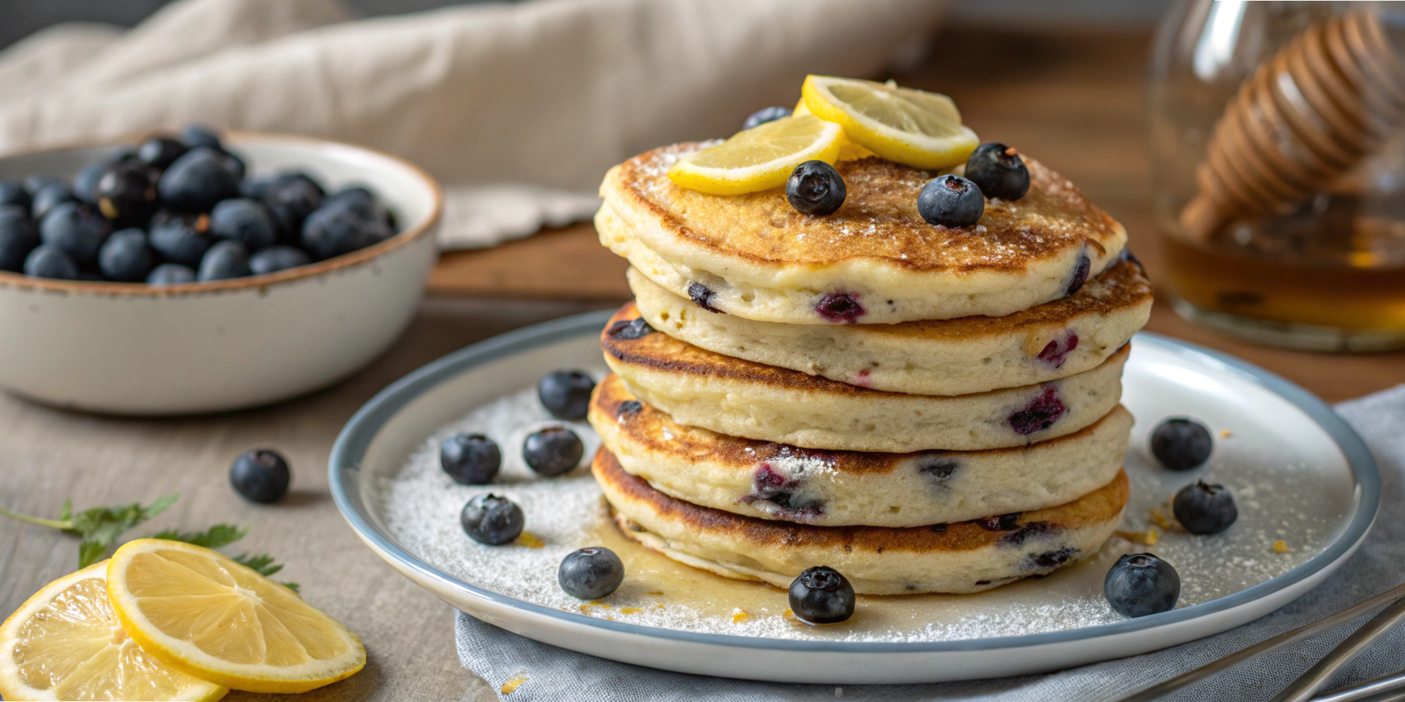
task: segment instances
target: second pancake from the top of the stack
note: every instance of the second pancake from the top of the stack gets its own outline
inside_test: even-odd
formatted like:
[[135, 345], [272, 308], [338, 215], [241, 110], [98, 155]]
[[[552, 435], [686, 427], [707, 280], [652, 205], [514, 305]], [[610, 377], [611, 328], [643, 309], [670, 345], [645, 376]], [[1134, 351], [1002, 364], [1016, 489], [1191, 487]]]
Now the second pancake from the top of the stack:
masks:
[[875, 390], [968, 395], [1089, 371], [1151, 314], [1151, 284], [1120, 261], [1068, 298], [1003, 317], [777, 324], [712, 314], [629, 268], [639, 314], [688, 344]]

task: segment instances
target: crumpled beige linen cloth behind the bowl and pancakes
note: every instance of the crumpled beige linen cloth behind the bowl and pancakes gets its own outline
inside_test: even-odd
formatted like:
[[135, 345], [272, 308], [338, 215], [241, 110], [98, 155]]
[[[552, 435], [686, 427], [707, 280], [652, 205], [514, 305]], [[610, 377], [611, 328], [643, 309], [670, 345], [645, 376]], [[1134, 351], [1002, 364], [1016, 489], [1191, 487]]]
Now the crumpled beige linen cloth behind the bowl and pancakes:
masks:
[[535, 0], [353, 20], [340, 0], [183, 0], [0, 52], [0, 154], [202, 122], [406, 157], [441, 246], [590, 218], [606, 170], [736, 132], [806, 73], [910, 58], [947, 0]]

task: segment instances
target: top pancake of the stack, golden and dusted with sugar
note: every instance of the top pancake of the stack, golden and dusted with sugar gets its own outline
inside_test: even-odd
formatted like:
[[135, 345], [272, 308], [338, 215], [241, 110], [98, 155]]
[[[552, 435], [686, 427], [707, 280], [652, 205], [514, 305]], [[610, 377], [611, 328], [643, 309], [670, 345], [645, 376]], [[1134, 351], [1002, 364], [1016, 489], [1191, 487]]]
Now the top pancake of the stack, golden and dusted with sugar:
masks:
[[611, 168], [600, 187], [600, 241], [669, 292], [757, 322], [999, 317], [1076, 292], [1127, 243], [1117, 220], [1033, 159], [1028, 194], [988, 201], [972, 227], [943, 227], [917, 215], [933, 171], [840, 161], [847, 199], [808, 216], [784, 188], [708, 195], [674, 185], [669, 167], [701, 146], [655, 149]]

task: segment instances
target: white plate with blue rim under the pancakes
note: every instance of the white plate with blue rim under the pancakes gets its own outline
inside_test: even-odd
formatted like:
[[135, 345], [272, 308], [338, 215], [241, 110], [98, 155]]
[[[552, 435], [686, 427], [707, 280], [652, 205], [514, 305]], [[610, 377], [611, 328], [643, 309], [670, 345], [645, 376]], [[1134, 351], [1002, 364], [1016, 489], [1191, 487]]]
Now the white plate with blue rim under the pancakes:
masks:
[[[565, 649], [679, 673], [749, 680], [895, 684], [1020, 675], [1132, 656], [1211, 636], [1263, 616], [1324, 581], [1361, 543], [1380, 503], [1380, 476], [1360, 438], [1307, 390], [1243, 361], [1142, 333], [1123, 380], [1137, 416], [1125, 459], [1132, 496], [1120, 529], [1090, 557], [1048, 577], [975, 595], [858, 598], [842, 625], [805, 626], [783, 590], [721, 578], [624, 539], [583, 466], [541, 477], [520, 458], [523, 438], [569, 424], [584, 465], [599, 439], [583, 423], [552, 420], [535, 399], [544, 372], [603, 372], [599, 333], [608, 313], [566, 317], [450, 354], [377, 395], [332, 452], [337, 507], [396, 570], [485, 622]], [[1151, 430], [1168, 417], [1211, 428], [1214, 452], [1190, 472], [1159, 468]], [[459, 431], [497, 441], [493, 484], [461, 486], [437, 463]], [[1158, 528], [1154, 510], [1182, 486], [1228, 487], [1239, 518], [1224, 534]], [[459, 526], [464, 503], [506, 496], [527, 532], [483, 546]], [[1135, 534], [1156, 529], [1155, 545]], [[1131, 538], [1125, 538], [1131, 536]], [[1145, 538], [1142, 538], [1145, 541]], [[556, 584], [561, 559], [604, 545], [625, 581], [582, 602]], [[1128, 619], [1103, 597], [1124, 553], [1154, 552], [1182, 580], [1172, 611]]]

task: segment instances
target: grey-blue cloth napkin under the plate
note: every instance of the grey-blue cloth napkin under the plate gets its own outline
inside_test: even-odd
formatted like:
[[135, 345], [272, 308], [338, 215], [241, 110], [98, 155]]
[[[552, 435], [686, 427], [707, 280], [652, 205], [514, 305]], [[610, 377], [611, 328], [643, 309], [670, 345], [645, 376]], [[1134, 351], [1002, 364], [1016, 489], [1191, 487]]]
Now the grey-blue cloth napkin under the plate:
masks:
[[[1175, 649], [1045, 675], [934, 685], [787, 685], [666, 673], [538, 643], [458, 615], [464, 665], [500, 688], [524, 673], [510, 696], [530, 701], [1113, 701], [1246, 646], [1338, 612], [1405, 580], [1405, 385], [1342, 403], [1336, 410], [1360, 432], [1381, 468], [1381, 512], [1361, 549], [1325, 584], [1238, 629]], [[1346, 639], [1367, 616], [1201, 681], [1169, 698], [1248, 702], [1269, 699]], [[1349, 664], [1328, 689], [1405, 667], [1405, 628], [1397, 628]]]

